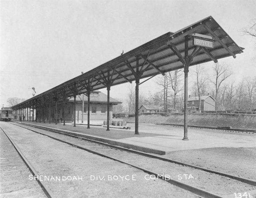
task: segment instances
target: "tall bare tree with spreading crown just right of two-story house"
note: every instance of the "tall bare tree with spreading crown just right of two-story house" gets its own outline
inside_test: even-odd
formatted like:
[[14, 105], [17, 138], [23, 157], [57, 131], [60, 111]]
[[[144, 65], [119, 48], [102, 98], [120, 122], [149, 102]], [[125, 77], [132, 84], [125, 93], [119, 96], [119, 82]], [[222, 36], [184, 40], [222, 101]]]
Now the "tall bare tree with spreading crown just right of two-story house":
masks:
[[213, 67], [214, 70], [214, 80], [210, 80], [215, 85], [215, 99], [216, 99], [216, 107], [215, 109], [218, 110], [218, 91], [220, 88], [221, 83], [226, 80], [232, 73], [228, 70], [228, 66], [225, 64], [218, 64]]

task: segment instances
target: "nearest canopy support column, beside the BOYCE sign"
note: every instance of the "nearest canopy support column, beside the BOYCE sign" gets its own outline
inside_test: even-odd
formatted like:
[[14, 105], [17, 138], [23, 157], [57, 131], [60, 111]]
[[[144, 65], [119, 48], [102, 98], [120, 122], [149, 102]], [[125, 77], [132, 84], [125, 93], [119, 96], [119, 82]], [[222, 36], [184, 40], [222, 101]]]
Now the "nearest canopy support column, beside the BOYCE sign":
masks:
[[189, 57], [188, 57], [188, 37], [185, 37], [185, 64], [184, 64], [184, 138], [182, 140], [188, 139], [188, 67], [189, 67]]

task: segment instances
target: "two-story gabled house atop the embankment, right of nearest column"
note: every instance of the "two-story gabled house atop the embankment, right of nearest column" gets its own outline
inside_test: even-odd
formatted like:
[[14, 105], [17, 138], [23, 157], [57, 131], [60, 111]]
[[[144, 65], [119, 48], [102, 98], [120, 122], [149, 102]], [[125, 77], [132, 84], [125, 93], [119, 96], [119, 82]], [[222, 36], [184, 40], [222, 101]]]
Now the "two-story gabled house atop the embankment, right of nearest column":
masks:
[[[215, 99], [210, 96], [200, 96], [201, 98], [201, 111], [215, 111]], [[188, 98], [188, 107], [196, 107], [199, 109], [199, 97], [192, 96]]]

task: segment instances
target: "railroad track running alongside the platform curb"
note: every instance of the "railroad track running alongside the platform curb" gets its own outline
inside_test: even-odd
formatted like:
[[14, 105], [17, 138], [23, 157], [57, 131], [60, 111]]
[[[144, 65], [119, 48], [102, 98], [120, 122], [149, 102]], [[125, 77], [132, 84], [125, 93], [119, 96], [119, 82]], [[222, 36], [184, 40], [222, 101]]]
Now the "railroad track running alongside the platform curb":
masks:
[[[100, 155], [100, 156], [103, 156], [103, 157], [106, 157], [109, 159], [113, 159], [115, 161], [119, 161], [124, 164], [128, 164], [128, 165], [135, 167], [137, 169], [140, 169], [150, 175], [153, 175], [153, 176], [157, 177], [158, 179], [162, 179], [162, 180], [169, 182], [175, 186], [178, 186], [187, 191], [190, 191], [190, 192], [198, 195], [199, 197], [207, 197], [207, 198], [208, 197], [209, 198], [211, 198], [211, 197], [217, 198], [218, 197], [219, 198], [222, 196], [219, 194], [204, 190], [203, 189], [204, 187], [202, 187], [202, 186], [200, 187], [200, 185], [194, 186], [196, 184], [196, 182], [193, 183], [194, 185], [190, 185], [190, 183], [187, 182], [186, 180], [179, 181], [177, 178], [176, 179], [170, 178], [170, 175], [163, 173], [163, 171], [167, 171], [166, 167], [168, 167], [171, 170], [173, 170], [175, 168], [182, 169], [182, 171], [184, 171], [184, 172], [193, 172], [193, 170], [197, 169], [197, 171], [200, 171], [200, 175], [206, 175], [206, 177], [213, 177], [213, 178], [221, 177], [222, 181], [224, 182], [225, 185], [226, 185], [226, 183], [230, 183], [232, 181], [229, 184], [230, 188], [233, 187], [234, 184], [238, 185], [238, 186], [242, 185], [243, 186], [242, 188], [245, 191], [248, 191], [247, 186], [248, 186], [248, 189], [254, 188], [252, 186], [256, 186], [256, 181], [254, 181], [254, 180], [250, 180], [250, 179], [246, 179], [246, 178], [242, 178], [242, 177], [238, 177], [238, 176], [234, 176], [234, 175], [229, 175], [226, 173], [194, 166], [191, 164], [186, 164], [186, 163], [179, 162], [179, 161], [170, 160], [170, 159], [163, 158], [163, 157], [160, 157], [157, 155], [143, 153], [143, 152], [135, 151], [135, 150], [131, 150], [131, 149], [125, 149], [125, 148], [121, 148], [118, 146], [112, 146], [112, 145], [108, 145], [108, 144], [101, 143], [98, 141], [92, 141], [92, 140], [88, 140], [85, 138], [76, 137], [73, 135], [62, 134], [60, 132], [53, 133], [53, 132], [47, 131], [45, 129], [40, 129], [40, 127], [38, 127], [38, 126], [37, 126], [37, 129], [35, 129], [32, 126], [24, 127], [24, 125], [21, 126], [21, 124], [15, 124], [15, 125], [17, 125], [19, 127], [23, 127], [25, 129], [28, 129], [30, 131], [36, 132], [38, 134], [48, 136], [54, 140], [69, 144], [73, 147], [83, 149], [88, 152], [91, 152], [91, 153], [94, 153], [94, 154], [97, 154], [97, 155]], [[28, 124], [26, 124], [26, 125], [28, 125]], [[143, 163], [142, 163], [142, 161], [143, 161]], [[145, 164], [148, 164], [148, 165], [146, 165], [146, 167], [145, 167]], [[154, 170], [152, 170], [152, 169], [154, 169]], [[201, 178], [201, 180], [202, 180], [202, 178]], [[207, 180], [205, 182], [209, 182], [209, 181]], [[223, 185], [223, 182], [222, 182], [222, 185]], [[204, 183], [204, 181], [203, 181], [203, 183]], [[232, 194], [232, 193], [230, 193], [230, 194]]]

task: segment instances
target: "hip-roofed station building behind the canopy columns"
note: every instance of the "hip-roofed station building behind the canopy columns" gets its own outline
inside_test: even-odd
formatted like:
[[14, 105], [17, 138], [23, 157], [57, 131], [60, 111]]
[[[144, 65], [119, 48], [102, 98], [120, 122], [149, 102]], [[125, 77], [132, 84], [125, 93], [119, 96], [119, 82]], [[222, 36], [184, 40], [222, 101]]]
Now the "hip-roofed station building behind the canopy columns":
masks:
[[[83, 99], [84, 98], [84, 99]], [[85, 94], [77, 95], [76, 97], [76, 113], [75, 119], [76, 123], [82, 123], [82, 106], [84, 100], [84, 112], [83, 112], [83, 123], [87, 124], [87, 116], [90, 114], [90, 124], [103, 124], [104, 120], [107, 120], [107, 95], [96, 90], [92, 91], [90, 95], [90, 109], [88, 111], [88, 97]], [[109, 98], [110, 103], [110, 119], [112, 119], [113, 105], [122, 103], [115, 100], [114, 98]], [[73, 121], [74, 119], [74, 98], [70, 98], [68, 104], [65, 106], [65, 120]]]

